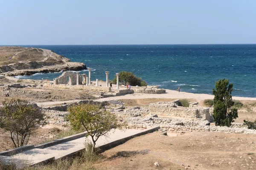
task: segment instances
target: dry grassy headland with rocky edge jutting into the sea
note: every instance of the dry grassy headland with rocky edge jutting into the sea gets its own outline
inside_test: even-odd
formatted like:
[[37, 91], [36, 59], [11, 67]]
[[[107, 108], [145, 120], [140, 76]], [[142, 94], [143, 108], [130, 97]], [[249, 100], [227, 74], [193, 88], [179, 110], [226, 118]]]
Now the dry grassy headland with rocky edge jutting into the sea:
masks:
[[87, 69], [84, 63], [70, 62], [70, 59], [51, 50], [15, 46], [0, 47], [0, 74], [6, 76], [84, 69]]

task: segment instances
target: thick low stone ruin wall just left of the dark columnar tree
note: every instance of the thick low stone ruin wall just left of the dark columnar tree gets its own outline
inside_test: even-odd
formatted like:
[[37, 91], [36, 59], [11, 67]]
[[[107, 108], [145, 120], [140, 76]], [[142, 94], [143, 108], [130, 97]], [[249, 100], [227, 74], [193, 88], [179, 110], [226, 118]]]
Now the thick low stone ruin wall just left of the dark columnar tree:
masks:
[[184, 108], [177, 106], [174, 102], [157, 102], [149, 104], [149, 111], [154, 114], [163, 114], [170, 116], [178, 116], [183, 118], [201, 118], [212, 121], [212, 116], [209, 113], [209, 108], [192, 107]]

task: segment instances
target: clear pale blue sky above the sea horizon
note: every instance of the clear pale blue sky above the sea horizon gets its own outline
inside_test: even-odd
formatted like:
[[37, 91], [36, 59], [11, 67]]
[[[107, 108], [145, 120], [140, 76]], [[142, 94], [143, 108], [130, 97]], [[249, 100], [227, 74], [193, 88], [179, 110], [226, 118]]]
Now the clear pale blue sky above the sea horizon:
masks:
[[256, 43], [256, 0], [1, 0], [0, 45]]

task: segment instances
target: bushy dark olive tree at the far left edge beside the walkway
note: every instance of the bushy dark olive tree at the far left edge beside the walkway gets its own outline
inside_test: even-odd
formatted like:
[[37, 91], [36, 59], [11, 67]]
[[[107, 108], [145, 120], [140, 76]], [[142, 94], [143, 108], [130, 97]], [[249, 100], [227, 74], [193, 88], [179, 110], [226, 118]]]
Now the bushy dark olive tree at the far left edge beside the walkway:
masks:
[[41, 108], [21, 99], [5, 100], [2, 105], [0, 126], [10, 132], [15, 147], [26, 145], [31, 133], [44, 125], [44, 113]]

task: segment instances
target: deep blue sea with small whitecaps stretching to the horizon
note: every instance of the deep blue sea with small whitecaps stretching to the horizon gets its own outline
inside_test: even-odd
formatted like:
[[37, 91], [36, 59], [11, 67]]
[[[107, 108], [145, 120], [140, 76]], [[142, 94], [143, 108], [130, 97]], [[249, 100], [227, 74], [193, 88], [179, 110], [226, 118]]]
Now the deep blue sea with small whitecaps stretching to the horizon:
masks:
[[[46, 48], [84, 62], [91, 79], [105, 80], [131, 71], [148, 85], [197, 94], [212, 94], [218, 79], [233, 83], [233, 96], [256, 97], [256, 44], [247, 45], [26, 45]], [[81, 74], [88, 71], [81, 71]], [[61, 73], [18, 76], [50, 79]]]

